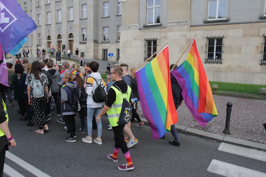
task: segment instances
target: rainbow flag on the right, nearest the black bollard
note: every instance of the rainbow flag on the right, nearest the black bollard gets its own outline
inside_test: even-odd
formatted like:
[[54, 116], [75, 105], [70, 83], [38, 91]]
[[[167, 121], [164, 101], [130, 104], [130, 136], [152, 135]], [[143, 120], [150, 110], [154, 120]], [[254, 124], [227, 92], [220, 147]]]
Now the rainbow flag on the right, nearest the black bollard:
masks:
[[193, 117], [204, 127], [218, 112], [195, 39], [187, 59], [172, 74], [182, 89], [182, 96]]

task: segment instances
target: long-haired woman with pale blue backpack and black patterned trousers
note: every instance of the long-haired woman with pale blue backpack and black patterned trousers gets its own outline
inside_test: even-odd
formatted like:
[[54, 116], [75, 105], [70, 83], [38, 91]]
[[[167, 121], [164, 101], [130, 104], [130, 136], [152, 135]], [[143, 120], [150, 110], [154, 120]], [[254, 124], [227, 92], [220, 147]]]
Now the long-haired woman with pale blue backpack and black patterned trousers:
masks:
[[39, 127], [34, 133], [44, 134], [45, 131], [49, 130], [44, 114], [44, 106], [49, 99], [48, 79], [47, 76], [42, 73], [41, 63], [37, 61], [32, 63], [31, 74], [27, 75], [25, 84], [27, 85], [29, 105], [33, 105]]

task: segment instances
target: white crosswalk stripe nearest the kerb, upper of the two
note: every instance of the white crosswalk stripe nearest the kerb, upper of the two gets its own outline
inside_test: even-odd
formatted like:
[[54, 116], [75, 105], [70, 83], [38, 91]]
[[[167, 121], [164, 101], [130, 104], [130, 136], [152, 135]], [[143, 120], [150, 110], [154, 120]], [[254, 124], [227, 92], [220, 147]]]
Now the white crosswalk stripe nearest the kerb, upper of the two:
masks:
[[218, 150], [266, 162], [265, 151], [258, 151], [255, 149], [249, 149], [246, 147], [235, 146], [227, 143], [221, 143]]

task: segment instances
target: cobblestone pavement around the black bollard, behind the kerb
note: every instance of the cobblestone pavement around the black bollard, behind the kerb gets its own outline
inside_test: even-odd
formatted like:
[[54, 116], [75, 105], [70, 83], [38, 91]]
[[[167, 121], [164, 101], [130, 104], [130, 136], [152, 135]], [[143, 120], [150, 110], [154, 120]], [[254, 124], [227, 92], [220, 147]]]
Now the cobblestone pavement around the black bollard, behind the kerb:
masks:
[[[178, 123], [176, 125], [266, 144], [266, 131], [263, 127], [263, 123], [266, 123], [265, 100], [234, 98], [220, 95], [213, 95], [213, 98], [219, 115], [214, 117], [205, 127], [202, 127], [195, 121], [184, 101], [177, 109]], [[230, 122], [231, 135], [223, 133], [226, 118], [226, 103], [228, 102], [233, 104]], [[140, 117], [144, 117], [140, 106], [138, 112]]]

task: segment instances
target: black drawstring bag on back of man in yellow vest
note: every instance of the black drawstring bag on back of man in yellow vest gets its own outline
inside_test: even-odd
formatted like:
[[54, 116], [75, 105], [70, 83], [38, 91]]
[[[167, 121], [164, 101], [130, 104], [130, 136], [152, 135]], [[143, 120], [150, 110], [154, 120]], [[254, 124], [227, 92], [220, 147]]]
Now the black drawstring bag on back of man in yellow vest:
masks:
[[[116, 87], [117, 87], [117, 85], [116, 85]], [[119, 89], [119, 87], [117, 87], [117, 88]], [[120, 90], [120, 92], [121, 92], [121, 90]], [[121, 95], [123, 97], [122, 92], [121, 92]], [[127, 95], [127, 92], [126, 92], [126, 95]], [[115, 113], [116, 113], [116, 109], [115, 109]], [[128, 101], [126, 100], [126, 96], [125, 96], [125, 98], [123, 97], [122, 109], [121, 109], [121, 113], [120, 113], [117, 124], [120, 126], [126, 125], [129, 121], [131, 121], [131, 118], [132, 118], [131, 106], [128, 103]]]

